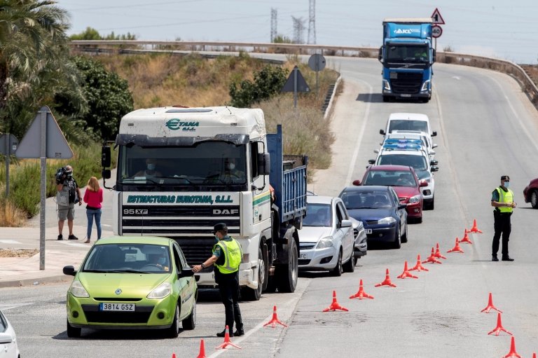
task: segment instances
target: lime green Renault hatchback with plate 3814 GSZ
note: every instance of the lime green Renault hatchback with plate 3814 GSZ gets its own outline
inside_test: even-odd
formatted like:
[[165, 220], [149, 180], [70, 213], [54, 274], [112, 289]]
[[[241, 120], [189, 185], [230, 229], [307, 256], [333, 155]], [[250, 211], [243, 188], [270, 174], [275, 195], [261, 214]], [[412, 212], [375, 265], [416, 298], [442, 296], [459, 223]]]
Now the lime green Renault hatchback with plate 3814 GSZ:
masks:
[[198, 286], [172, 239], [116, 236], [97, 240], [67, 291], [67, 336], [87, 329], [163, 329], [176, 338], [196, 325]]

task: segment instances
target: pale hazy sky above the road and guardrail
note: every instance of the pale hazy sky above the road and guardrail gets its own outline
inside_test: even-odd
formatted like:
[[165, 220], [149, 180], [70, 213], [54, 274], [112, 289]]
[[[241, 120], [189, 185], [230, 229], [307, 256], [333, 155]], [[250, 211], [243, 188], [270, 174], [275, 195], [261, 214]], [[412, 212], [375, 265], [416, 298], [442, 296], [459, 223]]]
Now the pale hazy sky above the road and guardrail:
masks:
[[69, 34], [92, 27], [139, 40], [267, 43], [274, 9], [279, 35], [294, 39], [296, 18], [304, 43], [371, 48], [381, 45], [384, 18], [429, 18], [437, 8], [445, 22], [438, 51], [538, 63], [536, 0], [57, 0], [57, 6], [70, 15]]

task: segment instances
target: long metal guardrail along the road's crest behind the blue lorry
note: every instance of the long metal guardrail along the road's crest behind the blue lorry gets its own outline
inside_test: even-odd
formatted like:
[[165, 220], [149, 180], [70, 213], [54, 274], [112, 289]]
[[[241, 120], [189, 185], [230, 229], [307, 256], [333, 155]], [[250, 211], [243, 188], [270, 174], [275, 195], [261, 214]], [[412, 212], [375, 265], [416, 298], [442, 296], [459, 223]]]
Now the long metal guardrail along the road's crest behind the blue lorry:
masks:
[[[322, 53], [322, 55], [340, 55], [349, 57], [378, 57], [378, 48], [307, 45], [302, 43], [240, 43], [221, 41], [142, 41], [142, 40], [76, 40], [71, 41], [71, 47], [78, 50], [104, 53], [141, 53], [141, 52], [167, 52], [181, 53], [181, 51], [224, 51], [224, 52], [261, 52], [261, 53], [295, 53], [308, 55]], [[538, 88], [532, 79], [518, 64], [499, 60], [492, 57], [465, 55], [461, 53], [437, 53], [437, 61], [444, 63], [462, 64], [471, 67], [492, 69], [516, 78], [521, 88], [527, 93], [530, 101], [538, 109]]]

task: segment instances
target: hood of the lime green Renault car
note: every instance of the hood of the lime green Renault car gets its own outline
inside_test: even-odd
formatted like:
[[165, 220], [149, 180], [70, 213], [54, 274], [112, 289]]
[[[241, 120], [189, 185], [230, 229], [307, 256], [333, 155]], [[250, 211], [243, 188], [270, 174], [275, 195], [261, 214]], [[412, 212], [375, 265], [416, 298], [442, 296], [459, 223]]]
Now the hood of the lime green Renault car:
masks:
[[[98, 298], [146, 298], [162, 282], [170, 279], [171, 273], [79, 273], [78, 280], [88, 294]], [[172, 282], [171, 282], [172, 283]], [[116, 294], [116, 289], [121, 294]]]

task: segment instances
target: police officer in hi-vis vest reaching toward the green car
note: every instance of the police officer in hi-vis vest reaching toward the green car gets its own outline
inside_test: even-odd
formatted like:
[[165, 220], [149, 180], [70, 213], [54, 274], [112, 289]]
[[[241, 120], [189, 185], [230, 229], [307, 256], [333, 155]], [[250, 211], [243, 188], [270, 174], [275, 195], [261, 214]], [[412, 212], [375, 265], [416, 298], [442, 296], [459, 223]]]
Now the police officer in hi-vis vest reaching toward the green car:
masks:
[[[213, 247], [213, 255], [201, 265], [193, 266], [193, 271], [198, 273], [202, 268], [214, 265], [215, 282], [219, 284], [222, 303], [226, 311], [226, 326], [230, 330], [230, 337], [244, 336], [241, 310], [239, 309], [239, 265], [243, 258], [241, 245], [233, 237], [228, 236], [226, 223], [217, 223], [213, 227], [216, 244]], [[233, 331], [235, 322], [236, 331]], [[216, 333], [223, 337], [226, 329]]]

